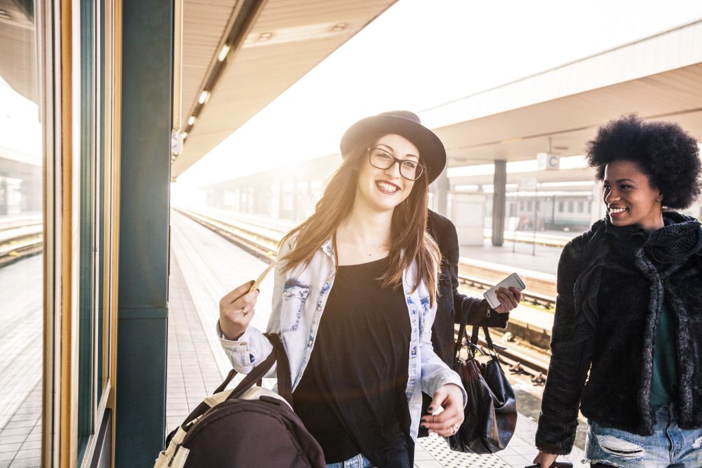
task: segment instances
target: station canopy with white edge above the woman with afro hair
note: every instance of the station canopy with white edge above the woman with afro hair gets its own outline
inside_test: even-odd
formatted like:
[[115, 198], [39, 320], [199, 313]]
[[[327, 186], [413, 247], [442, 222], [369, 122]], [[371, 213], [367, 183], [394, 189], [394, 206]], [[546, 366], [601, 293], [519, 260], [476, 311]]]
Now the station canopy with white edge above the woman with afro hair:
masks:
[[[422, 113], [449, 167], [582, 155], [621, 115], [678, 122], [702, 141], [702, 20]], [[555, 174], [557, 174], [556, 171]], [[555, 176], [554, 174], [554, 176]]]

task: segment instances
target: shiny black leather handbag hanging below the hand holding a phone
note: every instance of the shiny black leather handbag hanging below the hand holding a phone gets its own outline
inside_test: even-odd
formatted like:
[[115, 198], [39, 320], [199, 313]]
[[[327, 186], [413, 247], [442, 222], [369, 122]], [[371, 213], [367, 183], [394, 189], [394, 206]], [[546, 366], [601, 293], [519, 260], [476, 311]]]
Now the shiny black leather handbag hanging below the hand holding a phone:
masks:
[[[456, 434], [446, 437], [451, 450], [472, 453], [495, 453], [507, 447], [517, 426], [517, 400], [505, 373], [487, 327], [482, 327], [488, 352], [477, 345], [479, 327], [474, 326], [470, 342], [465, 334], [465, 318], [458, 329], [453, 353], [453, 370], [461, 376], [468, 393], [463, 424]], [[468, 358], [461, 359], [463, 340]], [[477, 353], [487, 358], [476, 359]]]

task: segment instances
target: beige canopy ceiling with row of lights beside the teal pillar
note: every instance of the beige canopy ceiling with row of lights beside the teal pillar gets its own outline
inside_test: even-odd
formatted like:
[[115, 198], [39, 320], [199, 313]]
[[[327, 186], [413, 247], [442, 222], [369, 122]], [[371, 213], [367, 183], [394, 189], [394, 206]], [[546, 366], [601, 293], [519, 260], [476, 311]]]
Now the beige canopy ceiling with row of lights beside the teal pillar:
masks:
[[181, 130], [187, 138], [173, 178], [395, 1], [185, 0]]

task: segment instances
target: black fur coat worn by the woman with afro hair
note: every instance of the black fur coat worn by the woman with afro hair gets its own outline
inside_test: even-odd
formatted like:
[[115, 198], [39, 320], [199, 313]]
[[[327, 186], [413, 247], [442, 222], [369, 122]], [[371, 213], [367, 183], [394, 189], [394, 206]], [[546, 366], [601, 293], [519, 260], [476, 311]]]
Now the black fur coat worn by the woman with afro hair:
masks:
[[663, 301], [677, 330], [678, 424], [702, 427], [702, 228], [675, 212], [663, 218], [656, 235], [606, 218], [564, 247], [540, 450], [570, 452], [578, 404], [600, 424], [653, 434], [652, 359]]

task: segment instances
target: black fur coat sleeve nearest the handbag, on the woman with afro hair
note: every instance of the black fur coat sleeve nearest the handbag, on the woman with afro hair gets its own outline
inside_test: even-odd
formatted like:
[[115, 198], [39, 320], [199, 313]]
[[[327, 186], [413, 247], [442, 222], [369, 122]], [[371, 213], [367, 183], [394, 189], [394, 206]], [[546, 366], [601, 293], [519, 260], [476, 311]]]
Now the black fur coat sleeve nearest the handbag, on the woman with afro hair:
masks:
[[551, 360], [536, 431], [536, 447], [559, 455], [573, 448], [581, 393], [592, 356], [592, 330], [576, 327], [574, 320], [574, 286], [583, 259], [581, 247], [573, 243], [564, 247], [558, 262]]

